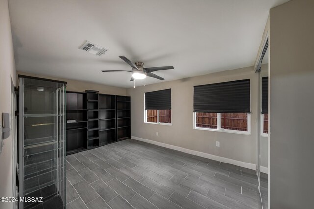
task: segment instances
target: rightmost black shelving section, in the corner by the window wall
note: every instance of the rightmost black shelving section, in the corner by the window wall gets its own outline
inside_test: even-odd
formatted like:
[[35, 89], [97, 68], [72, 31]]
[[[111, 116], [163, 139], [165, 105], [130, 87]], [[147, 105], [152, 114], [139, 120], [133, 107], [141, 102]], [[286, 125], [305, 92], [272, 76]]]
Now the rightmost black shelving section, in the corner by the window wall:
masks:
[[131, 138], [131, 98], [116, 96], [117, 141]]

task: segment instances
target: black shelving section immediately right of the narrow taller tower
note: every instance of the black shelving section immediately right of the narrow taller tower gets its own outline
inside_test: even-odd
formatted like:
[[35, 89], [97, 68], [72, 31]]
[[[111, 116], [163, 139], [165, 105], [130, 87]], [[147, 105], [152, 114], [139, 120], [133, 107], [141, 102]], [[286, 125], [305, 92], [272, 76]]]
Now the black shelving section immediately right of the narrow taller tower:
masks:
[[116, 96], [99, 94], [99, 144], [116, 142]]

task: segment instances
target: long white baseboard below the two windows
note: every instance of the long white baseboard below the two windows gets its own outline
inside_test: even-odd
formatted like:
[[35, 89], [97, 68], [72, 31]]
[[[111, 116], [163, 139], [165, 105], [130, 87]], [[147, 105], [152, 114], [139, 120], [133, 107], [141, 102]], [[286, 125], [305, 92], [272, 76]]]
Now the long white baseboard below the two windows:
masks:
[[233, 164], [233, 165], [237, 165], [240, 167], [245, 167], [248, 169], [252, 169], [255, 170], [256, 169], [256, 165], [252, 164], [252, 163], [246, 163], [246, 162], [242, 162], [242, 161], [237, 161], [237, 160], [233, 160], [230, 158], [224, 158], [224, 157], [220, 157], [217, 155], [212, 155], [212, 154], [208, 154], [208, 153], [204, 153], [204, 152], [199, 152], [199, 151], [195, 151], [195, 150], [191, 150], [191, 149], [186, 149], [183, 147], [179, 147], [179, 146], [174, 146], [174, 145], [170, 145], [170, 144], [165, 144], [165, 143], [161, 143], [158, 141], [153, 141], [153, 140], [149, 140], [149, 139], [143, 139], [143, 138], [139, 138], [139, 137], [135, 137], [135, 136], [131, 136], [131, 139], [135, 139], [138, 141], [143, 141], [146, 143], [150, 143], [150, 144], [155, 144], [157, 146], [161, 146], [161, 147], [165, 147], [165, 148], [169, 148], [169, 149], [174, 149], [177, 151], [181, 151], [181, 152], [185, 152], [191, 155], [197, 155], [200, 157], [204, 157], [204, 158], [209, 158], [215, 161], [220, 161], [220, 162], [224, 162], [224, 163], [229, 163], [229, 164]]

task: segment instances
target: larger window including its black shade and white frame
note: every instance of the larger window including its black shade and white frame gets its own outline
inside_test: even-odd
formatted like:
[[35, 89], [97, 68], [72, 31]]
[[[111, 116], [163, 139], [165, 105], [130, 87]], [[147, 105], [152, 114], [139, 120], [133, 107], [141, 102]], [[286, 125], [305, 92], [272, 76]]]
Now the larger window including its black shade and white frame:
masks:
[[250, 80], [194, 86], [194, 129], [250, 134]]

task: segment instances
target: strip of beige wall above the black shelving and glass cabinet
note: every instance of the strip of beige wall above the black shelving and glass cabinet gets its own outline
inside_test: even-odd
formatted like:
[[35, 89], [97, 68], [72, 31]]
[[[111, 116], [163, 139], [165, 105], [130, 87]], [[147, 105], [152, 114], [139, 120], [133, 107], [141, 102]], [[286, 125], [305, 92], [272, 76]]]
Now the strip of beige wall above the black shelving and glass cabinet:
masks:
[[66, 81], [68, 82], [67, 87], [66, 87], [67, 91], [84, 92], [87, 89], [91, 89], [91, 90], [98, 90], [99, 93], [104, 93], [104, 94], [113, 94], [113, 95], [122, 95], [122, 96], [126, 95], [125, 88], [106, 86], [102, 84], [95, 84], [95, 83], [70, 80], [70, 79], [64, 79], [64, 78], [56, 78], [56, 77], [45, 76], [45, 75], [35, 75], [31, 73], [26, 73], [26, 72], [17, 72], [17, 73], [19, 75], [27, 75], [27, 76], [33, 76], [33, 77], [39, 77], [39, 78]]

